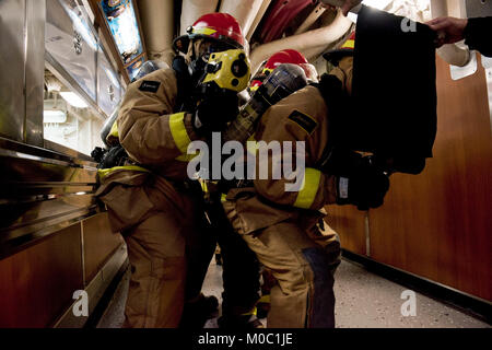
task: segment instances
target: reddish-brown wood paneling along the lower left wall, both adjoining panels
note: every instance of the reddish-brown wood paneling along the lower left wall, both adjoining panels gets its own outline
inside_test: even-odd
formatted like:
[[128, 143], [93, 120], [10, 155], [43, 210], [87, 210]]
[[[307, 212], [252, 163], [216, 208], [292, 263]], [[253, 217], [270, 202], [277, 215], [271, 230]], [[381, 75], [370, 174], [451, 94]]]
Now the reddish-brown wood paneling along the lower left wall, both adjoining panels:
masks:
[[98, 213], [0, 260], [0, 328], [54, 325], [121, 245], [107, 220]]

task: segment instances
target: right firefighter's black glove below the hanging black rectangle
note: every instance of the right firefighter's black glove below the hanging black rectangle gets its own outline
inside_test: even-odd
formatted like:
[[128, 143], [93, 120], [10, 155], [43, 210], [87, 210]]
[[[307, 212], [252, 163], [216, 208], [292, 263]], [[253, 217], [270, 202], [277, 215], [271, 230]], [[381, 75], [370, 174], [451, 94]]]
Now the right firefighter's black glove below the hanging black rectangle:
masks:
[[354, 205], [359, 210], [383, 206], [389, 178], [371, 158], [335, 150], [321, 171], [336, 176], [337, 205]]

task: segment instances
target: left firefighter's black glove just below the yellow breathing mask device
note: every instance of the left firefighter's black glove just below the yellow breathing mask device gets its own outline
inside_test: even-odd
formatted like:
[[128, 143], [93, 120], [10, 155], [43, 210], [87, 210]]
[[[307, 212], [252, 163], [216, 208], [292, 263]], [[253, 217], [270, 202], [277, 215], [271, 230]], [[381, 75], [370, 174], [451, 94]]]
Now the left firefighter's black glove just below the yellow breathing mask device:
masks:
[[194, 114], [194, 126], [198, 133], [223, 131], [227, 122], [239, 113], [237, 95], [212, 96], [203, 100]]

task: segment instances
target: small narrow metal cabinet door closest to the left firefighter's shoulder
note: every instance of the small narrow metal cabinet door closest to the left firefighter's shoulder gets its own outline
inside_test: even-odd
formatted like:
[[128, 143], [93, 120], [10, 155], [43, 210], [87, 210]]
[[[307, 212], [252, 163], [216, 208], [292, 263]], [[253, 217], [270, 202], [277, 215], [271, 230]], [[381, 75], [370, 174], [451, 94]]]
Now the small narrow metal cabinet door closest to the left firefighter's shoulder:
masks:
[[97, 105], [108, 116], [112, 115], [121, 97], [118, 74], [113, 69], [104, 51], [97, 51]]

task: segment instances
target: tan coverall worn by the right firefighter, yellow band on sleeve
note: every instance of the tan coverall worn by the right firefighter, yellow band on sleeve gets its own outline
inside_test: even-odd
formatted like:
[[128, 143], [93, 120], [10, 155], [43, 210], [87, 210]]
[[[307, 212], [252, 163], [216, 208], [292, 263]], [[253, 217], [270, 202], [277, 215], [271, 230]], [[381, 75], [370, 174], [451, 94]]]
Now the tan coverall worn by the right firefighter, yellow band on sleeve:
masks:
[[[330, 73], [351, 93], [352, 58], [343, 59]], [[235, 230], [278, 281], [271, 290], [268, 327], [335, 326], [332, 275], [340, 261], [340, 245], [331, 229], [325, 225], [324, 231], [317, 223], [324, 217], [319, 210], [336, 201], [336, 182], [313, 167], [328, 144], [329, 127], [329, 107], [315, 86], [270, 107], [255, 139], [305, 141], [305, 186], [288, 192], [284, 185], [292, 180], [255, 179], [254, 188], [230, 190], [223, 203]], [[257, 155], [257, 167], [265, 166], [259, 161]], [[281, 164], [278, 161], [269, 154], [269, 168], [272, 163]]]

